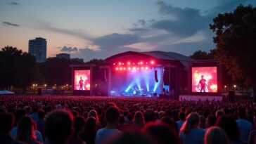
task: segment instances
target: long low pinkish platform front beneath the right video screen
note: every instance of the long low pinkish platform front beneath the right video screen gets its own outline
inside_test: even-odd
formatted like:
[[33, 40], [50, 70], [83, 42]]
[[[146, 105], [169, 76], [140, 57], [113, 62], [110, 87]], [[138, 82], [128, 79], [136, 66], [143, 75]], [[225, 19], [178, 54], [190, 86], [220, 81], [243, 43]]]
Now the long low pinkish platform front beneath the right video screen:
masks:
[[193, 100], [193, 101], [212, 101], [212, 100], [222, 100], [222, 96], [189, 96], [189, 95], [181, 95], [179, 96], [179, 101], [189, 101], [189, 100]]

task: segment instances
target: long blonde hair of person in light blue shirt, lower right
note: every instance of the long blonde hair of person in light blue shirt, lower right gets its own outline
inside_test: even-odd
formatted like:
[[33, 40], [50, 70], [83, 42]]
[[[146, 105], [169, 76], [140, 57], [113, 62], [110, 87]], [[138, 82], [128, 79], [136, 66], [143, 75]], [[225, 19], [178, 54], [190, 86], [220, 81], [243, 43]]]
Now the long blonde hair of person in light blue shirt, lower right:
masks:
[[181, 126], [181, 132], [184, 134], [189, 134], [193, 126], [198, 126], [199, 114], [197, 112], [192, 112], [186, 117], [186, 121]]

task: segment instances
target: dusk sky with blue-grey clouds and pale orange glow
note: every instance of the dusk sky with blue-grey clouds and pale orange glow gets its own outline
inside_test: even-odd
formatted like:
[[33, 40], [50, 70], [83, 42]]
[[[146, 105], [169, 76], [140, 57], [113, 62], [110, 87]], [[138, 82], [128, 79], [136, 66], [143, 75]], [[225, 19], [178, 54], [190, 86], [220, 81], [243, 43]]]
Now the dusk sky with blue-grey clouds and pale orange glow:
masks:
[[47, 57], [108, 58], [124, 51], [191, 55], [215, 48], [209, 24], [255, 0], [0, 0], [0, 48], [28, 51], [43, 37]]

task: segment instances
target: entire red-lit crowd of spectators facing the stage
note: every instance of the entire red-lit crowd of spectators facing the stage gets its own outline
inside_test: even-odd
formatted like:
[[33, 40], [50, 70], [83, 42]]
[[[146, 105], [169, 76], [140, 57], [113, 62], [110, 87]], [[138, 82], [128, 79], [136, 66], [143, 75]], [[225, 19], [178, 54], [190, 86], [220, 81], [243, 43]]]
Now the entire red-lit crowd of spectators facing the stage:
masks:
[[0, 96], [0, 143], [256, 143], [252, 103]]

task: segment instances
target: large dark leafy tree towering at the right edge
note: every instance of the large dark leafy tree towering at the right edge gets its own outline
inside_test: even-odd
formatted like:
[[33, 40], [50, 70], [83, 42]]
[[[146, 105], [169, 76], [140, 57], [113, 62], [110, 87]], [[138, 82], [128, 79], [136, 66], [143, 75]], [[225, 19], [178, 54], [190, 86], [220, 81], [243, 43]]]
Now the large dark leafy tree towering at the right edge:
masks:
[[210, 24], [216, 33], [216, 58], [233, 79], [250, 81], [256, 103], [256, 8], [238, 6], [233, 13], [217, 15]]

